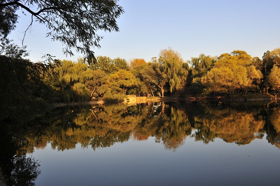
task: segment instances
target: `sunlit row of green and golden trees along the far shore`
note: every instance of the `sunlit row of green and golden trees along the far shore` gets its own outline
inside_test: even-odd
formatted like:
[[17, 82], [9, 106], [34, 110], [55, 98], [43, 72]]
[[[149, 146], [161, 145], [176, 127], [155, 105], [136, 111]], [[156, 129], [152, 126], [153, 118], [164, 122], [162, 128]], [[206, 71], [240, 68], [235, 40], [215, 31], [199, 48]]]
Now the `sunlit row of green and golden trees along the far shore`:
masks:
[[43, 81], [60, 101], [93, 98], [124, 99], [137, 96], [206, 96], [280, 90], [280, 48], [264, 53], [263, 59], [235, 50], [219, 57], [200, 54], [184, 61], [171, 47], [162, 49], [149, 62], [133, 58], [97, 56], [92, 61], [59, 60]]

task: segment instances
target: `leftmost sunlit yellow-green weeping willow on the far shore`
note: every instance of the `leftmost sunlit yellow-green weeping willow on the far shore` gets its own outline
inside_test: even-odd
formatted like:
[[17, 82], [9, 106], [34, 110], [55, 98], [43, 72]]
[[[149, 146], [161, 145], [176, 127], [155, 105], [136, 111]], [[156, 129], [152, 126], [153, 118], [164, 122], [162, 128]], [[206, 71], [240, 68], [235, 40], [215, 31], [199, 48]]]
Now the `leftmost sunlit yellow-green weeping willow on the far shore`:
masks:
[[55, 79], [61, 86], [63, 101], [87, 101], [90, 90], [84, 84], [86, 80], [92, 78], [92, 70], [88, 69], [81, 58], [78, 58], [77, 62], [62, 60], [60, 63], [61, 65], [55, 68], [54, 72]]

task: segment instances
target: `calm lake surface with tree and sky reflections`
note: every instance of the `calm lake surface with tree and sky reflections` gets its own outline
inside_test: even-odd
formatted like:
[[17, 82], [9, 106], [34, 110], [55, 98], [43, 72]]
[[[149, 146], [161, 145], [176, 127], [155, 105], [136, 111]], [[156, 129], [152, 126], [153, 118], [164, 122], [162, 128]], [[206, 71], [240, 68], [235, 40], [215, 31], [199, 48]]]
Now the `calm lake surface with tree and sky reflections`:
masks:
[[10, 168], [14, 183], [24, 177], [39, 186], [280, 184], [274, 102], [58, 107], [11, 130], [7, 144], [16, 144], [11, 153], [21, 157]]

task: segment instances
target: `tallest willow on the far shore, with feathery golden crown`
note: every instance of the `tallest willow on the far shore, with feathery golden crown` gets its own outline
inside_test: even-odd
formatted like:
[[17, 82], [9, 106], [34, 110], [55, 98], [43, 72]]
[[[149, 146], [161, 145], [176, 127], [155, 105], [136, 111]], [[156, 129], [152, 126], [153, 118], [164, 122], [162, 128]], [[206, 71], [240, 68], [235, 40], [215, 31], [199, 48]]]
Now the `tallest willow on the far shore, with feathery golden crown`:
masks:
[[167, 75], [170, 92], [177, 91], [187, 80], [188, 64], [184, 63], [181, 54], [171, 47], [160, 51], [158, 61]]

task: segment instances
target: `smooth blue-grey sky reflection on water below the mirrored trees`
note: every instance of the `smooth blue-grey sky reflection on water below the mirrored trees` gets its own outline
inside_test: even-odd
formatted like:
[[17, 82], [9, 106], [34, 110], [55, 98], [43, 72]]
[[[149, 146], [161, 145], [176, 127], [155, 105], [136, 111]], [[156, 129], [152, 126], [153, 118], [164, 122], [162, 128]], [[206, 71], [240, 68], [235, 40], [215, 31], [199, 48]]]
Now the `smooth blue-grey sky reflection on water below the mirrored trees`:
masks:
[[[162, 143], [162, 142], [161, 142]], [[36, 185], [276, 185], [280, 150], [263, 139], [238, 146], [220, 138], [204, 144], [186, 137], [175, 152], [154, 137], [113, 146], [57, 151], [50, 143], [32, 156], [40, 161]]]

